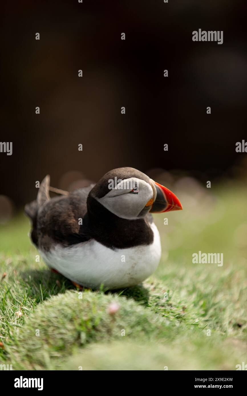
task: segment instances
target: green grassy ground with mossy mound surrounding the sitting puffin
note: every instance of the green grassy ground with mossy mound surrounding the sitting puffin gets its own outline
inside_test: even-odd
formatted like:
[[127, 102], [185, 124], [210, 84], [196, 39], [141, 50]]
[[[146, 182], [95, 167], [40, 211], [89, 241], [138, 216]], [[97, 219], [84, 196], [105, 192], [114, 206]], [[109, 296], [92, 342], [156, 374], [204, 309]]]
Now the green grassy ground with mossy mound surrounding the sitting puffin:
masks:
[[[247, 190], [214, 191], [185, 179], [174, 192], [184, 210], [155, 216], [163, 248], [158, 270], [144, 285], [117, 293], [80, 293], [36, 262], [23, 215], [1, 226], [0, 364], [234, 370], [246, 363]], [[199, 250], [223, 253], [223, 266], [193, 264]], [[115, 314], [111, 303], [119, 305]]]

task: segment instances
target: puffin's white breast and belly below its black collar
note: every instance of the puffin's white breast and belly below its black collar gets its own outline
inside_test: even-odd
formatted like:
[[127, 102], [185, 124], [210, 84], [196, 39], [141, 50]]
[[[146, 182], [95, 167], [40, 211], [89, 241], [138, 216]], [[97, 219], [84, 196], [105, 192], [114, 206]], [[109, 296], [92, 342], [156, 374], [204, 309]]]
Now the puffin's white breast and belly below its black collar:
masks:
[[134, 286], [155, 271], [161, 258], [159, 231], [154, 223], [150, 227], [154, 234], [151, 245], [112, 250], [89, 240], [69, 247], [56, 245], [50, 252], [41, 251], [41, 255], [48, 267], [82, 286]]

